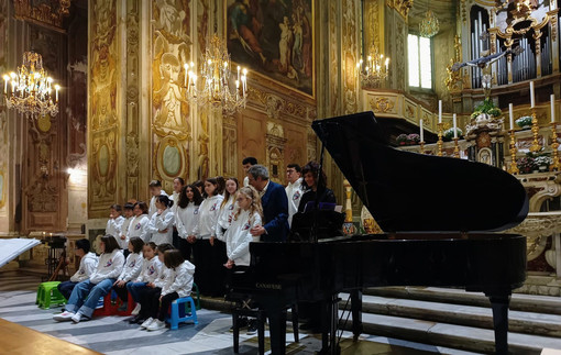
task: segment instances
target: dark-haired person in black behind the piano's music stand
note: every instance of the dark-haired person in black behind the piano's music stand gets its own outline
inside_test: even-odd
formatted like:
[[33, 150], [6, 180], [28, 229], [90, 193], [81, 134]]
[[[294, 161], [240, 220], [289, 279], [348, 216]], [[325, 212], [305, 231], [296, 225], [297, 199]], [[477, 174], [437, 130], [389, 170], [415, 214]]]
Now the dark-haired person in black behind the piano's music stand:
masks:
[[323, 169], [319, 169], [319, 164], [309, 162], [301, 169], [304, 176], [302, 187], [306, 191], [298, 206], [298, 212], [306, 212], [315, 208], [316, 198], [319, 195], [318, 202], [337, 203], [336, 195], [327, 188], [327, 177]]

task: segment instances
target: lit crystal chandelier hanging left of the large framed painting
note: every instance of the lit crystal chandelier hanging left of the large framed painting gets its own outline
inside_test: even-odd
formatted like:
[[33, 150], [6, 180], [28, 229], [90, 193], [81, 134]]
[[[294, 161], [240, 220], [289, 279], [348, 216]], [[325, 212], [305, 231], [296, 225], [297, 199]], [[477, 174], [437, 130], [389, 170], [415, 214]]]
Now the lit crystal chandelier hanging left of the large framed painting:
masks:
[[237, 76], [230, 71], [230, 54], [218, 35], [212, 36], [200, 66], [198, 75], [193, 62], [184, 64], [185, 91], [189, 102], [222, 110], [226, 114], [233, 114], [240, 108], [245, 108], [248, 69], [238, 66]]

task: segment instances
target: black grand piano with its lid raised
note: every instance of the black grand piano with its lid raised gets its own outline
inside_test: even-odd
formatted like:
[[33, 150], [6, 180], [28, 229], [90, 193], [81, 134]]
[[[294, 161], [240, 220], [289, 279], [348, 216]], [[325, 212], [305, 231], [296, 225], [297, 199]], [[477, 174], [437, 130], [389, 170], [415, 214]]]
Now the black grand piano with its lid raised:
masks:
[[395, 149], [372, 112], [315, 121], [312, 129], [385, 234], [250, 244], [250, 267], [233, 288], [267, 314], [272, 352], [285, 353], [288, 304], [321, 301], [321, 353], [337, 354], [339, 292], [351, 295], [356, 337], [363, 288], [441, 286], [488, 297], [496, 353], [507, 354], [508, 304], [526, 279], [526, 238], [493, 232], [528, 213], [518, 180], [490, 165]]

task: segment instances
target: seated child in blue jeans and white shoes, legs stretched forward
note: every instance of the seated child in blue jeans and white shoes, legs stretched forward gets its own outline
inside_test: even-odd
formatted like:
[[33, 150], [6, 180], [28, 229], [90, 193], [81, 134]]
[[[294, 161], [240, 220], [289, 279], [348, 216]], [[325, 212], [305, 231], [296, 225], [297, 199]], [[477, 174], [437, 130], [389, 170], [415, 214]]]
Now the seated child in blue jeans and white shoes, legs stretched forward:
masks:
[[121, 253], [119, 243], [112, 235], [105, 235], [99, 243], [101, 255], [98, 267], [89, 279], [81, 281], [74, 288], [66, 311], [56, 314], [53, 319], [57, 322], [91, 319], [94, 310], [98, 306], [99, 298], [111, 291], [117, 277], [121, 275], [124, 265], [124, 256]]

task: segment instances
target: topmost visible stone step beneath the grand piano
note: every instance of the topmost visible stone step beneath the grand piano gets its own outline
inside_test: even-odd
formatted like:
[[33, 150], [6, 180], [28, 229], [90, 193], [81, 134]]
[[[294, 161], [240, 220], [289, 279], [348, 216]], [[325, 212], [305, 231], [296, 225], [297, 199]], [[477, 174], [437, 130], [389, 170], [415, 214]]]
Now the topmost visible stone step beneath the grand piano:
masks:
[[[490, 307], [488, 298], [481, 292], [439, 287], [377, 287], [364, 290], [364, 295], [387, 298], [438, 301], [444, 303]], [[510, 310], [561, 315], [561, 297], [513, 293]]]

